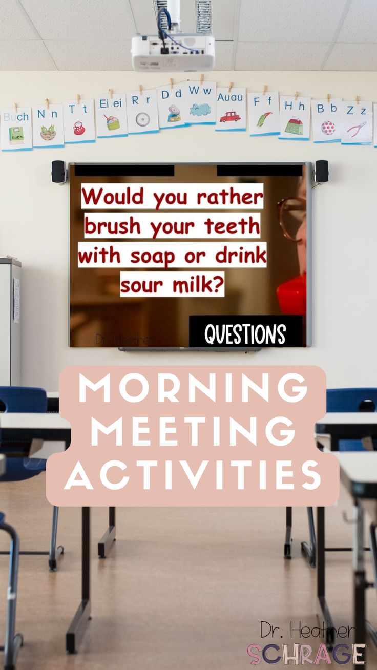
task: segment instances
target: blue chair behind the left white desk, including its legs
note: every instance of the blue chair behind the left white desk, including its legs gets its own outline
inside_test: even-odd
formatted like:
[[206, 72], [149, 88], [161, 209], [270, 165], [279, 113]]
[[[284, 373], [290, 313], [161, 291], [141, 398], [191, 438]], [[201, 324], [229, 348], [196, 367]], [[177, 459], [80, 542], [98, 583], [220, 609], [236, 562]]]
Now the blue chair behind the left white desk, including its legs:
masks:
[[[47, 395], [44, 389], [35, 389], [32, 387], [0, 387], [0, 403], [6, 412], [47, 412]], [[35, 477], [40, 472], [46, 470], [46, 459], [44, 458], [25, 458], [22, 454], [29, 452], [30, 442], [3, 442], [1, 440], [0, 427], [0, 453], [7, 456], [7, 466], [5, 476], [1, 481], [19, 482], [21, 480]], [[50, 570], [56, 570], [58, 557], [64, 553], [63, 547], [56, 547], [56, 536], [58, 532], [58, 513], [59, 508], [54, 507], [52, 513], [52, 530], [50, 538], [49, 551], [21, 551], [21, 554], [27, 555], [48, 555]], [[8, 553], [0, 551], [0, 554]]]

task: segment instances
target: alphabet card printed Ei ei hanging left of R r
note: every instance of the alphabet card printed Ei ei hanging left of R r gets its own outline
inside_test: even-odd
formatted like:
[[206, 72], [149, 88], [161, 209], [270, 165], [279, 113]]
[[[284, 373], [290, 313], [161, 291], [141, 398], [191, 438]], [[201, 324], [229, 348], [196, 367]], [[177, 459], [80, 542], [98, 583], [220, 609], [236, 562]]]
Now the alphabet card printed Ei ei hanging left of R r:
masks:
[[97, 138], [127, 137], [126, 94], [104, 94], [96, 96]]

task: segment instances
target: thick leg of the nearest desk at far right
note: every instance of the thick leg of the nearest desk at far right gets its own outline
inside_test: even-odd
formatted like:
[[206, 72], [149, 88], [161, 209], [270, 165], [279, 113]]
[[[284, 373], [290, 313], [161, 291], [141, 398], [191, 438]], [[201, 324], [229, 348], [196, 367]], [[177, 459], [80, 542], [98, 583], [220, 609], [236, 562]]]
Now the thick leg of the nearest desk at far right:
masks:
[[[354, 626], [355, 644], [365, 643], [365, 568], [364, 568], [364, 510], [358, 502], [354, 504]], [[360, 660], [365, 661], [364, 655]]]

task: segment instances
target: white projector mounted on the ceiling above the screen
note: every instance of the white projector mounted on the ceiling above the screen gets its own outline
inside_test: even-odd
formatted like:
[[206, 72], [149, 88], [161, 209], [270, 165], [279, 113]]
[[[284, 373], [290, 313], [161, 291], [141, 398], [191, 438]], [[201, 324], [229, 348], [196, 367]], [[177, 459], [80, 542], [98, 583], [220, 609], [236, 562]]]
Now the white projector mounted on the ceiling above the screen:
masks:
[[[158, 35], [132, 38], [133, 69], [138, 72], [205, 72], [215, 65], [215, 38], [210, 34], [180, 31], [180, 0], [167, 0], [157, 14]], [[165, 15], [167, 29], [162, 21]]]

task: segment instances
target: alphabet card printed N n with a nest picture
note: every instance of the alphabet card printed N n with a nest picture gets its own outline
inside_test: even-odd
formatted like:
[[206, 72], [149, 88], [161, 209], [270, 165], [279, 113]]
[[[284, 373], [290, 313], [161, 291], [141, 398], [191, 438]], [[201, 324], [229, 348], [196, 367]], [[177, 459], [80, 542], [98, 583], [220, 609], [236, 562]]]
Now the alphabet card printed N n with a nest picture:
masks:
[[33, 147], [64, 147], [63, 105], [33, 105]]

